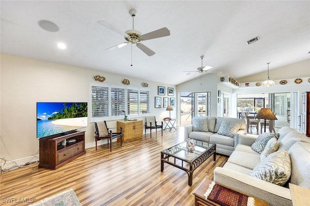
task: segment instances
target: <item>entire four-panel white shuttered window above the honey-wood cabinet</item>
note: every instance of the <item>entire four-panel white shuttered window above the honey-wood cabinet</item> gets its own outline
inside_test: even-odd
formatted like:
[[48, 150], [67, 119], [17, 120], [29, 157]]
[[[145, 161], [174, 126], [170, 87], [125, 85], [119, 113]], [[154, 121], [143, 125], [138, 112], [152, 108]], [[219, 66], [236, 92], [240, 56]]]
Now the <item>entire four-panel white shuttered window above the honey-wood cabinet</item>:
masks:
[[91, 122], [143, 117], [150, 113], [150, 91], [90, 83]]

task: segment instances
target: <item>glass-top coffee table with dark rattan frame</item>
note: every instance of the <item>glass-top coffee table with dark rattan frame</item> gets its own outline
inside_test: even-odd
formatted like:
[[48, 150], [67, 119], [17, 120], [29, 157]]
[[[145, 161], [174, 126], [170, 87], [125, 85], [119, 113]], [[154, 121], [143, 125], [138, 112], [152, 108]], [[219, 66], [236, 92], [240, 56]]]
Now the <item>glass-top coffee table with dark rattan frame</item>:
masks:
[[[213, 154], [213, 161], [216, 160], [216, 145], [202, 140], [194, 140], [195, 150], [189, 152], [182, 142], [160, 152], [160, 171], [164, 171], [164, 163], [171, 164], [188, 175], [188, 185], [192, 186], [194, 170]], [[170, 160], [169, 160], [170, 158]], [[172, 160], [171, 160], [172, 159]]]

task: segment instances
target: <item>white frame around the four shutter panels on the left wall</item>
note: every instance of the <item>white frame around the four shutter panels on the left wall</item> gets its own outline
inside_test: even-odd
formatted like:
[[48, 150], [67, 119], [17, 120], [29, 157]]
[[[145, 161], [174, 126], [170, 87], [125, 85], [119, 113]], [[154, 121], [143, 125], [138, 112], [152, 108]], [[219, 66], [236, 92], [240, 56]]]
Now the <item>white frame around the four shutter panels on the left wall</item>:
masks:
[[[93, 87], [102, 87], [102, 88], [109, 88], [108, 89], [108, 95], [109, 95], [109, 101], [108, 101], [108, 110], [109, 110], [109, 114], [108, 116], [102, 116], [102, 117], [93, 117], [93, 93], [92, 93], [92, 89]], [[111, 88], [121, 88], [124, 89], [124, 97], [125, 97], [125, 101], [124, 101], [124, 110], [126, 111], [126, 115], [128, 116], [128, 118], [139, 118], [139, 117], [145, 117], [145, 116], [149, 116], [150, 115], [150, 105], [151, 105], [151, 101], [150, 101], [150, 96], [151, 96], [151, 92], [150, 89], [145, 89], [145, 88], [134, 88], [134, 87], [126, 87], [126, 86], [120, 86], [120, 85], [111, 85], [111, 84], [100, 84], [100, 83], [94, 83], [91, 82], [90, 86], [89, 86], [89, 102], [90, 102], [90, 106], [89, 106], [89, 114], [90, 114], [90, 122], [96, 122], [96, 121], [104, 121], [104, 120], [119, 120], [119, 119], [123, 119], [124, 118], [124, 113], [118, 115], [118, 116], [112, 116], [112, 105], [111, 105]], [[138, 114], [129, 114], [128, 115], [128, 93], [129, 91], [132, 90], [137, 90], [138, 91]], [[141, 91], [143, 91], [143, 94], [147, 94], [148, 95], [148, 111], [146, 113], [142, 113], [141, 109], [140, 109], [140, 95], [141, 95]], [[146, 96], [147, 96], [146, 95]], [[145, 103], [145, 102], [143, 102]]]

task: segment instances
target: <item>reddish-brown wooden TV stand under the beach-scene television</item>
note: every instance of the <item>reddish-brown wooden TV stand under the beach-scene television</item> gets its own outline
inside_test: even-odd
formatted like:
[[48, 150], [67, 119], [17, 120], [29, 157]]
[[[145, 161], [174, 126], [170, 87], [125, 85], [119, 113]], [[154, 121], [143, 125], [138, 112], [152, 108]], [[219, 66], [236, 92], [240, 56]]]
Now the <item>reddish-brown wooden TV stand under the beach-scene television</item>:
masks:
[[[75, 139], [75, 142], [68, 142]], [[62, 142], [66, 144], [62, 146]], [[85, 154], [85, 131], [72, 131], [39, 139], [39, 168], [56, 170]]]

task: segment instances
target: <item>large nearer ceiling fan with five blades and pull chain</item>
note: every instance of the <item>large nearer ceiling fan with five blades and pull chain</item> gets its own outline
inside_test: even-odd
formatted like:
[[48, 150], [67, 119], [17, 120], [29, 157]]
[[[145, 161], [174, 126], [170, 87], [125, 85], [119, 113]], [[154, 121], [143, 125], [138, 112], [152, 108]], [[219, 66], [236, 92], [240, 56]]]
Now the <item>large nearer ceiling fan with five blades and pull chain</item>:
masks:
[[[107, 49], [114, 49], [114, 48], [121, 48], [125, 45], [128, 44], [136, 44], [136, 46], [143, 51], [146, 55], [148, 56], [153, 56], [155, 52], [142, 44], [142, 41], [150, 40], [150, 39], [155, 39], [155, 38], [160, 38], [160, 37], [165, 37], [170, 35], [170, 30], [167, 29], [166, 27], [163, 27], [161, 29], [157, 29], [155, 31], [151, 31], [146, 34], [142, 34], [140, 31], [136, 30], [134, 28], [134, 17], [136, 16], [137, 11], [135, 9], [131, 9], [129, 11], [129, 14], [132, 16], [132, 29], [126, 30], [125, 32], [121, 31], [120, 29], [117, 29], [113, 25], [109, 24], [106, 21], [97, 21], [99, 24], [107, 27], [108, 29], [111, 29], [112, 31], [124, 36], [126, 42], [117, 44], [115, 46], [112, 46]], [[106, 50], [107, 50], [106, 49]], [[132, 65], [131, 65], [132, 66]]]

